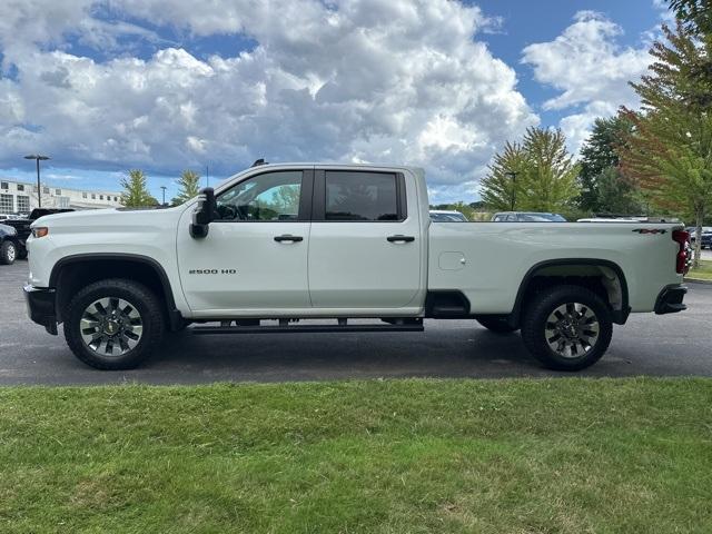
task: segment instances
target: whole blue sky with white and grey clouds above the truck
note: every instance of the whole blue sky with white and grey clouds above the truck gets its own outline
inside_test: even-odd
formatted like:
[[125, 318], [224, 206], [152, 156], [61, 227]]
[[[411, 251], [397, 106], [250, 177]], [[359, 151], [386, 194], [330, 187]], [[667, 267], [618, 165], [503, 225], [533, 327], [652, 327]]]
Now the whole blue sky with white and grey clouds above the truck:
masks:
[[[60, 3], [58, 6], [57, 3]], [[8, 0], [0, 6], [0, 176], [160, 198], [180, 169], [215, 184], [258, 157], [426, 168], [471, 200], [527, 126], [576, 150], [666, 12], [656, 0]], [[221, 6], [224, 4], [224, 6]]]

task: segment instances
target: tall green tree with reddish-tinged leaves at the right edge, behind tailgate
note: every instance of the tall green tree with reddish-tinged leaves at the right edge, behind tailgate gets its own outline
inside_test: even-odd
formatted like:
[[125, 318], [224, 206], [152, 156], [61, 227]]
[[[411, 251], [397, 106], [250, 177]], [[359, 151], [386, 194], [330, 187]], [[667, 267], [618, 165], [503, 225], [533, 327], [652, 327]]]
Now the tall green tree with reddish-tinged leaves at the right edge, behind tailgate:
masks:
[[701, 227], [712, 206], [712, 102], [691, 92], [704, 90], [691, 79], [696, 76], [691, 65], [708, 53], [706, 44], [681, 22], [676, 32], [663, 31], [668, 42], [651, 49], [652, 73], [631, 83], [642, 112], [622, 110], [634, 125], [621, 151], [622, 168], [656, 206], [693, 214], [698, 266]]

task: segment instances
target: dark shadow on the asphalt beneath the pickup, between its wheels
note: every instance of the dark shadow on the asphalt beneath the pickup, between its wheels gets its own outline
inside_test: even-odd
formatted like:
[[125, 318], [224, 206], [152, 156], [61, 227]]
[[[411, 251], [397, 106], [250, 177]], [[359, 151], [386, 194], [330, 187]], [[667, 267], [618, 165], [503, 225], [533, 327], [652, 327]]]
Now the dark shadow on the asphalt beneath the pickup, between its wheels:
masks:
[[142, 368], [178, 367], [234, 379], [329, 379], [551, 375], [518, 334], [477, 326], [425, 334], [280, 334], [171, 336]]

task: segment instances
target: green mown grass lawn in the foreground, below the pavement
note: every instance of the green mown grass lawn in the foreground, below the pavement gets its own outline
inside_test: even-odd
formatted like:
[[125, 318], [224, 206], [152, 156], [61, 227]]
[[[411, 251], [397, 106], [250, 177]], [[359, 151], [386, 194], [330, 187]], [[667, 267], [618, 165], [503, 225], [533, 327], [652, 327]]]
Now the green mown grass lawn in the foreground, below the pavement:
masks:
[[2, 533], [711, 528], [709, 379], [0, 389]]

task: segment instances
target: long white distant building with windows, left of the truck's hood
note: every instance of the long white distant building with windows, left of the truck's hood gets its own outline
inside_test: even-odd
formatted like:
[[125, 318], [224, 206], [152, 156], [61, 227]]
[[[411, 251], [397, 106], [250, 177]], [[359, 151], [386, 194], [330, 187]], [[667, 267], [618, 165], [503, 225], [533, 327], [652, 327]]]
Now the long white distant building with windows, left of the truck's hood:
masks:
[[38, 194], [43, 208], [96, 209], [121, 206], [121, 194], [116, 191], [96, 191], [91, 189], [68, 189], [0, 178], [0, 214], [27, 214], [38, 207]]

